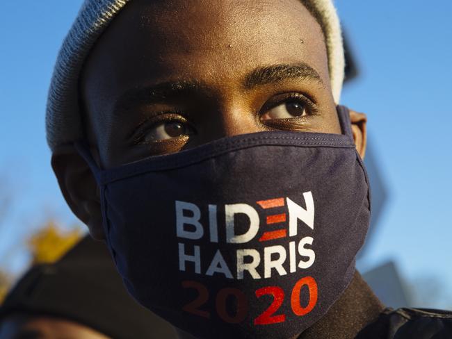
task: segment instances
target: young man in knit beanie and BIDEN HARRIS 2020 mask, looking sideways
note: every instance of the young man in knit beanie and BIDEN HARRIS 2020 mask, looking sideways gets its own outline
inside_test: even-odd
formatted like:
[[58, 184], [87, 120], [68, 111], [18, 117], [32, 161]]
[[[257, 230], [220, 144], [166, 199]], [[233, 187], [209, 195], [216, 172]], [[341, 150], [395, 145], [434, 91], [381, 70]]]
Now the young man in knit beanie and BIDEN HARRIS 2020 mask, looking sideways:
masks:
[[181, 338], [450, 326], [385, 309], [355, 272], [366, 117], [337, 106], [343, 78], [330, 0], [86, 1], [51, 83], [52, 165], [131, 295]]

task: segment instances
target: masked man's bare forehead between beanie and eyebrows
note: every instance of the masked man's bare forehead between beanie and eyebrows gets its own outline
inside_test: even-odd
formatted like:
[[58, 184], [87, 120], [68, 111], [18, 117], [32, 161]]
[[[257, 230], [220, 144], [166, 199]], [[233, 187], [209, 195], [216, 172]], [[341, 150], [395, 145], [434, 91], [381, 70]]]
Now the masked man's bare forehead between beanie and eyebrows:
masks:
[[132, 0], [90, 53], [83, 83], [113, 96], [188, 77], [234, 85], [255, 67], [299, 62], [329, 83], [321, 27], [298, 0]]

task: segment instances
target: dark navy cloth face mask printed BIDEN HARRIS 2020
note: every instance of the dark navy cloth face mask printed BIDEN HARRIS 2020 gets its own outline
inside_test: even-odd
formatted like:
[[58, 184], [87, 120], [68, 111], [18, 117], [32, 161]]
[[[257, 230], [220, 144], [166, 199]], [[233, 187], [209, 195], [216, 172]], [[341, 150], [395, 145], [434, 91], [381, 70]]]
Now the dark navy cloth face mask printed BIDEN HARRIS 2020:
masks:
[[106, 170], [77, 143], [131, 295], [206, 339], [288, 339], [325, 315], [370, 217], [347, 108], [338, 114], [342, 135], [237, 135]]

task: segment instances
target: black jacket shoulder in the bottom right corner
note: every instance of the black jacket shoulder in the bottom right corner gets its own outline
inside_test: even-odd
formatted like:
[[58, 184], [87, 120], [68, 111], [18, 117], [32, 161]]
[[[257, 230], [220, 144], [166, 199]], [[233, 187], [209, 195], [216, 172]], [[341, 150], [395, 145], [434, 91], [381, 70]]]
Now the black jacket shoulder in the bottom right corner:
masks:
[[356, 338], [446, 339], [452, 338], [452, 311], [429, 308], [386, 308]]

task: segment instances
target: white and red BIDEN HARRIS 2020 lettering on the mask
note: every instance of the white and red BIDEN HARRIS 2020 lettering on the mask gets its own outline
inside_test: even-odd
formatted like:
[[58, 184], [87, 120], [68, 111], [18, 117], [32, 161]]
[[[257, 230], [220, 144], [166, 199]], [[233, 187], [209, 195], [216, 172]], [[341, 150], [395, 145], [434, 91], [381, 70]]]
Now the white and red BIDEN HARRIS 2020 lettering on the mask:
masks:
[[[177, 237], [186, 239], [186, 242], [178, 243], [179, 250], [179, 270], [189, 272], [193, 270], [196, 274], [205, 274], [206, 276], [221, 275], [225, 279], [269, 279], [272, 276], [284, 276], [288, 273], [296, 273], [298, 270], [305, 270], [311, 267], [315, 261], [315, 252], [308, 246], [312, 245], [314, 239], [311, 236], [303, 235], [300, 231], [302, 227], [307, 230], [314, 230], [314, 199], [312, 192], [303, 193], [305, 199], [305, 208], [296, 204], [289, 197], [266, 199], [256, 201], [256, 208], [250, 204], [226, 204], [224, 206], [223, 227], [218, 226], [218, 206], [209, 204], [201, 206], [208, 211], [208, 226], [201, 222], [201, 209], [196, 204], [186, 201], [175, 201], [176, 210], [176, 231]], [[223, 206], [222, 206], [223, 207]], [[286, 208], [286, 213], [281, 213], [282, 208]], [[275, 209], [277, 213], [268, 215], [269, 210]], [[264, 212], [264, 213], [263, 213]], [[259, 213], [264, 214], [262, 217], [266, 222], [261, 224]], [[236, 227], [238, 215], [241, 215], [241, 221], [247, 220], [246, 226], [241, 225], [239, 232]], [[244, 219], [245, 217], [245, 219]], [[204, 219], [206, 220], [206, 219]], [[301, 222], [299, 222], [301, 221]], [[223, 234], [219, 232], [223, 231]], [[213, 258], [204, 258], [202, 256], [202, 246], [193, 245], [196, 240], [203, 237], [208, 238], [211, 243], [223, 241], [224, 245], [234, 246], [234, 244], [245, 244], [258, 238], [259, 250], [255, 248], [239, 248], [235, 249], [234, 263], [228, 263], [225, 260], [220, 249], [216, 250]], [[296, 240], [291, 240], [296, 237]], [[289, 238], [285, 245], [271, 245], [273, 240]], [[205, 240], [204, 240], [205, 241]], [[229, 256], [230, 258], [230, 256]], [[202, 265], [204, 264], [205, 265]], [[208, 265], [207, 265], [208, 264]], [[207, 267], [202, 270], [202, 267]], [[233, 274], [234, 272], [234, 274]], [[184, 288], [195, 288], [199, 294], [208, 294], [207, 288], [196, 281], [184, 281]], [[305, 307], [300, 305], [300, 292], [303, 286], [309, 289], [309, 304]], [[225, 294], [221, 296], [221, 294]], [[225, 299], [227, 294], [234, 295], [239, 303], [248, 304], [246, 297], [240, 290], [233, 288], [225, 288], [224, 291], [218, 292], [220, 299]], [[284, 299], [284, 291], [277, 286], [268, 286], [259, 288], [255, 291], [257, 298], [261, 295], [273, 295], [274, 301]], [[305, 315], [312, 311], [317, 300], [317, 285], [314, 278], [305, 276], [293, 286], [291, 293], [292, 311], [296, 315]], [[218, 300], [217, 300], [218, 301]], [[281, 301], [282, 302], [282, 301]], [[205, 311], [201, 311], [196, 307], [195, 301], [185, 306], [185, 311], [195, 313], [197, 315], [208, 317]], [[198, 305], [199, 306], [199, 305]], [[254, 321], [254, 324], [273, 324], [284, 322], [284, 315], [273, 315], [275, 303], [262, 313]], [[217, 302], [218, 308], [218, 302]], [[273, 311], [271, 311], [273, 308]], [[222, 308], [217, 309], [218, 315], [225, 321], [230, 323], [241, 322], [245, 317], [243, 313], [245, 308], [242, 307], [242, 314], [238, 312], [236, 315], [228, 315]], [[272, 316], [273, 315], [273, 316]]]

